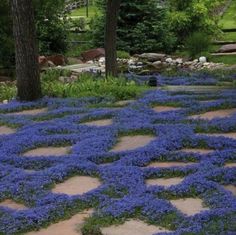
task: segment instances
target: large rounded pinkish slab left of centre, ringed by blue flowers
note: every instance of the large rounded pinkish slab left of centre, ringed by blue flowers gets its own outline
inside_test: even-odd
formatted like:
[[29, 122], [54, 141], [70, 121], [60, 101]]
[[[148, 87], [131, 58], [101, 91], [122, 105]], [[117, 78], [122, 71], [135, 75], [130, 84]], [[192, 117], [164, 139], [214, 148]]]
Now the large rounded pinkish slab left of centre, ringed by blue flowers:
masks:
[[89, 176], [75, 176], [63, 183], [57, 184], [53, 189], [53, 193], [63, 193], [67, 195], [81, 195], [101, 185], [99, 179]]

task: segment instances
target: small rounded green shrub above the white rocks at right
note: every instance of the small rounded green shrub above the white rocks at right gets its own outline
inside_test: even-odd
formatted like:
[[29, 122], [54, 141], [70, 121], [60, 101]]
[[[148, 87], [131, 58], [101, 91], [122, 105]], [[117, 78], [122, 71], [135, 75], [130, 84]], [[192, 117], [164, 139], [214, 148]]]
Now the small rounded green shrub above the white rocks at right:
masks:
[[186, 40], [186, 49], [189, 56], [195, 58], [201, 56], [201, 53], [206, 52], [211, 45], [210, 37], [202, 32], [194, 32]]

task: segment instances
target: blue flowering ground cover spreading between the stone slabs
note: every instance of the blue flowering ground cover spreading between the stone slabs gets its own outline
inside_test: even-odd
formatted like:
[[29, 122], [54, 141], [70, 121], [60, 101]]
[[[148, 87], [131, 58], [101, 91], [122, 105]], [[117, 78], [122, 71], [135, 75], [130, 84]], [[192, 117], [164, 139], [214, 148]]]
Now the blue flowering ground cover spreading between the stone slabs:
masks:
[[[157, 105], [180, 109], [158, 113], [152, 109]], [[0, 234], [39, 230], [88, 208], [93, 208], [94, 214], [82, 228], [87, 235], [100, 234], [100, 227], [129, 218], [173, 231], [159, 234], [236, 234], [236, 198], [223, 187], [236, 185], [236, 168], [225, 167], [236, 162], [236, 139], [206, 135], [236, 132], [236, 114], [209, 121], [188, 118], [235, 108], [236, 91], [186, 94], [152, 90], [125, 107], [111, 106], [99, 98], [45, 98], [0, 106], [0, 125], [17, 128], [14, 134], [0, 135], [0, 202], [12, 199], [27, 206], [20, 211], [0, 207]], [[14, 114], [42, 107], [48, 112]], [[83, 124], [105, 118], [112, 118], [113, 124]], [[136, 134], [156, 138], [134, 150], [110, 151], [120, 136]], [[72, 149], [60, 157], [22, 156], [46, 146]], [[190, 154], [180, 151], [184, 148], [215, 151]], [[196, 164], [148, 167], [153, 162], [171, 161]], [[102, 184], [83, 195], [52, 193], [55, 184], [78, 175], [98, 177]], [[147, 179], [171, 177], [185, 178], [168, 188], [145, 183]], [[179, 198], [201, 198], [209, 210], [187, 216], [170, 203]]]

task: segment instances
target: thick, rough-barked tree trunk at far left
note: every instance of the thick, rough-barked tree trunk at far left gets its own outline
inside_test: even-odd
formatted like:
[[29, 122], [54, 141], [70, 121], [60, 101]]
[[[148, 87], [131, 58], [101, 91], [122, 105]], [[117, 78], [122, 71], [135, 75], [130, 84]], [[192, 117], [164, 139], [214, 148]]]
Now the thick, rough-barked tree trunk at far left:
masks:
[[16, 54], [17, 98], [41, 97], [38, 50], [32, 0], [11, 0]]

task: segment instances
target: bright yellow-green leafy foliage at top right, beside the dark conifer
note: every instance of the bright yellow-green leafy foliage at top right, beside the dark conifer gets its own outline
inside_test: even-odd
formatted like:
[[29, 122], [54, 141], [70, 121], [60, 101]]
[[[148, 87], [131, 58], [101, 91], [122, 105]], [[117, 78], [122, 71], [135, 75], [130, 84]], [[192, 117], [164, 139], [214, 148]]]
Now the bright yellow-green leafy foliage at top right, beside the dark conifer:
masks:
[[215, 9], [224, 0], [169, 0], [169, 21], [179, 43], [193, 32], [214, 34], [218, 31]]

